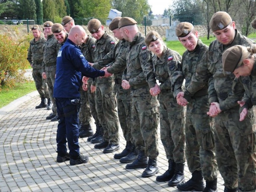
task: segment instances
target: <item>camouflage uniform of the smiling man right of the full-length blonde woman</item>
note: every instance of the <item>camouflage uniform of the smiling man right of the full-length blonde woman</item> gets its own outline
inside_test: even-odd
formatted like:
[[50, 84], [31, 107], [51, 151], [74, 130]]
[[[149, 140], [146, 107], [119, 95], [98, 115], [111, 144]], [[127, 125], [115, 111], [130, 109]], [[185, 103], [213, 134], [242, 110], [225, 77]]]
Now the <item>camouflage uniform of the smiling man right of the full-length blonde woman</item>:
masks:
[[[195, 50], [186, 50], [182, 55], [180, 72], [175, 72], [176, 84], [174, 85], [174, 96], [181, 91], [179, 84], [185, 78], [185, 87], [188, 87], [192, 76], [196, 73], [199, 63], [208, 47], [198, 39]], [[174, 78], [174, 79], [175, 79]], [[217, 162], [214, 152], [214, 121], [206, 112], [209, 111], [208, 86], [205, 85], [197, 91], [187, 104], [186, 112], [186, 159], [189, 171], [202, 170], [206, 181], [217, 178]]]

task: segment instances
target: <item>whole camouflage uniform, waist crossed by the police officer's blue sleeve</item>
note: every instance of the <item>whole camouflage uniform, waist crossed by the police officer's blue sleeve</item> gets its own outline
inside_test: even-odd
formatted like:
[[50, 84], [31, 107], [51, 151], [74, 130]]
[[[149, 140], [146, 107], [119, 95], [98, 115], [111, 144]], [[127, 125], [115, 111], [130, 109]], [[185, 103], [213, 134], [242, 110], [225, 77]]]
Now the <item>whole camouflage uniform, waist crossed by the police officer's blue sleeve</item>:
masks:
[[[98, 62], [107, 53], [114, 49], [116, 40], [107, 32], [95, 42], [94, 62]], [[102, 69], [103, 66], [95, 65], [95, 69]], [[104, 129], [103, 142], [119, 144], [117, 101], [114, 93], [113, 77], [96, 78], [96, 109], [98, 119]]]

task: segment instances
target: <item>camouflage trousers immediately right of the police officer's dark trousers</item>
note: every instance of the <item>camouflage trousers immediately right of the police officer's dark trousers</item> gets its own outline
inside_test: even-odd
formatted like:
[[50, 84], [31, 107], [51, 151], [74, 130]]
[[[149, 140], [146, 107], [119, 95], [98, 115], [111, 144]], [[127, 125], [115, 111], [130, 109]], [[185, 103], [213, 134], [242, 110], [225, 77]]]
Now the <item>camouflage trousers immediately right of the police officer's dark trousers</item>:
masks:
[[83, 90], [83, 84], [80, 86], [80, 112], [79, 112], [79, 120], [82, 125], [89, 125], [92, 121], [92, 115], [90, 112], [90, 105], [88, 99], [88, 92]]

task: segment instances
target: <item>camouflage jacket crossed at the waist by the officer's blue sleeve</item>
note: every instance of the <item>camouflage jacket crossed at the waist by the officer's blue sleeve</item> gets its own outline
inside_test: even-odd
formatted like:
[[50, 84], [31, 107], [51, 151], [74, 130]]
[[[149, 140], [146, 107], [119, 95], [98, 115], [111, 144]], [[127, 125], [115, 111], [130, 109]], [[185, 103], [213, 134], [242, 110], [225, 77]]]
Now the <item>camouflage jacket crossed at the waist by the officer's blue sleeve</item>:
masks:
[[[94, 62], [98, 62], [102, 59], [107, 53], [109, 53], [112, 49], [115, 48], [117, 41], [114, 37], [108, 35], [107, 32], [102, 35], [99, 40], [95, 41], [95, 49], [94, 49]], [[102, 69], [104, 66], [95, 65], [93, 66], [95, 69]], [[108, 81], [112, 81], [113, 77], [110, 76], [108, 78], [96, 78], [96, 83], [106, 83]]]

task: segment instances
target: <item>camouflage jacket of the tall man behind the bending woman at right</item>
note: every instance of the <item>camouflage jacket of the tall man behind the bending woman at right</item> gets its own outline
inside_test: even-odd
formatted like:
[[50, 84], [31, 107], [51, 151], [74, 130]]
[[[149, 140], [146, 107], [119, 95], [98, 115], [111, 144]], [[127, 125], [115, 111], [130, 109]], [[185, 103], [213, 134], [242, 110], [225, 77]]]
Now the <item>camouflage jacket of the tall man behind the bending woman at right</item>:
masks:
[[253, 43], [254, 41], [241, 35], [237, 30], [233, 42], [227, 46], [217, 40], [213, 41], [209, 46], [209, 51], [204, 56], [206, 61], [200, 63], [200, 67], [197, 68], [197, 73], [193, 76], [185, 93], [190, 96], [194, 95], [209, 81], [209, 103], [218, 102], [221, 111], [236, 107], [237, 101], [242, 99], [245, 90], [243, 85], [235, 79], [233, 73], [223, 73], [222, 53], [234, 45], [249, 46]]

